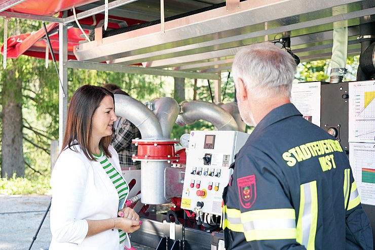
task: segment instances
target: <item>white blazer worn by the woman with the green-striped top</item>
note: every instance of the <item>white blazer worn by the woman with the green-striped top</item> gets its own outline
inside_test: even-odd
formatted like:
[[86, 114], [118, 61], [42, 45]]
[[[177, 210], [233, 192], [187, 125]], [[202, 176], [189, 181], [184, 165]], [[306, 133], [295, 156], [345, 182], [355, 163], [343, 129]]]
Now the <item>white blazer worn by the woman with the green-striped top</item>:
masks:
[[[51, 176], [52, 240], [49, 249], [123, 250], [118, 230], [109, 229], [86, 237], [86, 220], [117, 217], [119, 195], [100, 162], [90, 161], [79, 145], [74, 147], [78, 152], [68, 148], [62, 151]], [[116, 150], [110, 146], [109, 152], [112, 155], [109, 162], [122, 176]], [[129, 235], [126, 238], [126, 246], [130, 247]]]

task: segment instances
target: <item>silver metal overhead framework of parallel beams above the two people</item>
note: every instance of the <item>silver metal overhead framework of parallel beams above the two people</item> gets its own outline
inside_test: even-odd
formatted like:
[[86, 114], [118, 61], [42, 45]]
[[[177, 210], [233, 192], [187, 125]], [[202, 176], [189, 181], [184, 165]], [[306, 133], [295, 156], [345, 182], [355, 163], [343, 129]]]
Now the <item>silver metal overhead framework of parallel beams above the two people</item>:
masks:
[[[135, 1], [116, 0], [108, 4], [108, 9], [124, 11], [125, 9], [118, 7]], [[14, 6], [21, 2], [13, 0], [10, 4]], [[300, 0], [253, 0], [241, 2], [239, 5], [237, 2], [237, 0], [227, 1], [227, 5], [231, 4], [236, 8], [224, 6], [166, 22], [166, 36], [163, 38], [161, 38], [159, 24], [105, 37], [100, 44], [97, 41], [81, 44], [77, 46], [75, 54], [84, 62], [107, 61], [108, 64], [117, 64], [114, 70], [119, 72], [130, 70], [145, 74], [165, 73], [171, 76], [183, 74], [184, 77], [213, 79], [216, 76], [199, 75], [229, 70], [233, 56], [242, 46], [264, 41], [267, 37], [275, 39], [285, 33], [290, 34], [292, 50], [299, 53], [298, 56], [302, 61], [327, 58], [330, 56], [333, 22], [347, 22], [342, 25], [348, 25], [349, 31], [352, 31], [349, 32], [349, 36], [355, 36], [359, 30], [357, 19], [375, 14], [375, 5], [369, 0], [361, 2], [324, 0], [312, 6], [306, 6]], [[356, 10], [354, 7], [357, 5], [368, 5], [368, 7]], [[85, 11], [79, 13], [77, 18], [95, 15], [103, 12], [105, 8], [97, 4], [90, 4], [90, 6], [96, 7], [89, 10], [85, 10], [87, 7], [81, 7]], [[295, 8], [289, 8], [290, 6]], [[327, 14], [327, 10], [343, 6], [348, 10], [340, 15]], [[269, 14], [262, 15], [262, 13]], [[2, 12], [0, 15], [64, 24], [74, 21], [72, 16], [54, 18], [13, 12]], [[309, 32], [306, 28], [309, 28]], [[321, 45], [310, 46], [309, 44], [312, 43]], [[359, 41], [355, 38], [351, 39], [349, 46], [351, 54], [359, 54]], [[134, 67], [124, 67], [138, 63], [142, 63], [145, 69], [135, 70]], [[80, 63], [70, 64], [79, 67]], [[80, 65], [89, 67], [84, 63]], [[151, 68], [164, 71], [150, 70]], [[110, 69], [105, 66], [105, 70]], [[171, 72], [176, 70], [180, 72]], [[185, 74], [183, 71], [192, 74]]]

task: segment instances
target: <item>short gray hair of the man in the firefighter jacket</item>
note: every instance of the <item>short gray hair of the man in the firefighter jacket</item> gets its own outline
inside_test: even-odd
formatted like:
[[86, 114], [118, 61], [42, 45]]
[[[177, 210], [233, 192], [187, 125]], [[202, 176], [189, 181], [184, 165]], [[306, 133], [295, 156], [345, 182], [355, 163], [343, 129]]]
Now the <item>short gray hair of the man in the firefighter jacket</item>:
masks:
[[232, 65], [235, 82], [241, 78], [247, 91], [258, 97], [290, 98], [296, 64], [291, 55], [274, 44], [253, 44], [237, 52]]

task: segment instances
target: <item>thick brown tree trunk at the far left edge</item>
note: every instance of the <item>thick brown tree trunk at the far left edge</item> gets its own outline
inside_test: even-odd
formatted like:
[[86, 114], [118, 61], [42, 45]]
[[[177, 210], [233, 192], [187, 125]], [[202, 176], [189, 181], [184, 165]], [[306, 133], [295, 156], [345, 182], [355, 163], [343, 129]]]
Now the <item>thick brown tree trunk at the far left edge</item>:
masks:
[[[8, 59], [9, 60], [9, 59]], [[13, 173], [24, 176], [25, 162], [22, 147], [22, 79], [17, 77], [15, 63], [3, 73], [3, 131], [1, 177], [11, 178]]]

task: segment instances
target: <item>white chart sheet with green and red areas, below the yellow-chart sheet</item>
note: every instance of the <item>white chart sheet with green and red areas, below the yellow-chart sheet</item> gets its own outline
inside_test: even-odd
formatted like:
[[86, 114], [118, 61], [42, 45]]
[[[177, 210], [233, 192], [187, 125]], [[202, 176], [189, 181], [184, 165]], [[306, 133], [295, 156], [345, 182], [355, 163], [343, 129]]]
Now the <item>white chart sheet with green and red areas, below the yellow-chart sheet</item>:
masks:
[[375, 143], [349, 143], [349, 160], [362, 204], [375, 205]]

